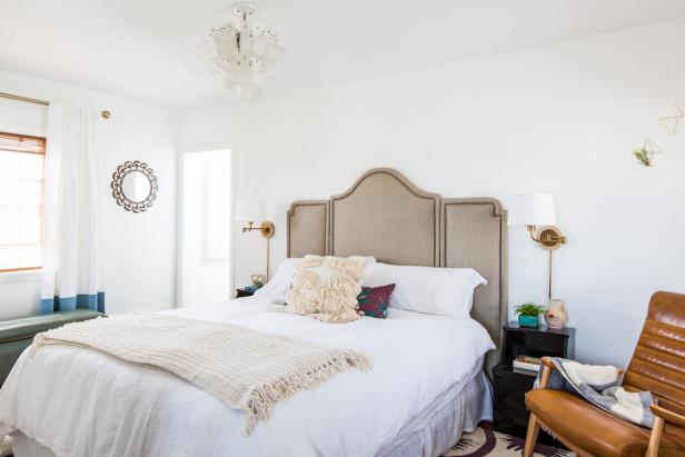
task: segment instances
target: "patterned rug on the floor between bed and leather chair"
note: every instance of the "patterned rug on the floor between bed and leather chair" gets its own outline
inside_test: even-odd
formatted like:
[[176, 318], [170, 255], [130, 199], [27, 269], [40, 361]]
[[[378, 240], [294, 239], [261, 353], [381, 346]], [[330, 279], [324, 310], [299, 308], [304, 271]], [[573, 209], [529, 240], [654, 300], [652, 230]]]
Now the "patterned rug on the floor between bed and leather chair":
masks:
[[[471, 434], [461, 435], [459, 443], [443, 457], [520, 457], [525, 440], [493, 430], [492, 423], [480, 423]], [[534, 456], [573, 457], [574, 453], [556, 447], [535, 445]]]

